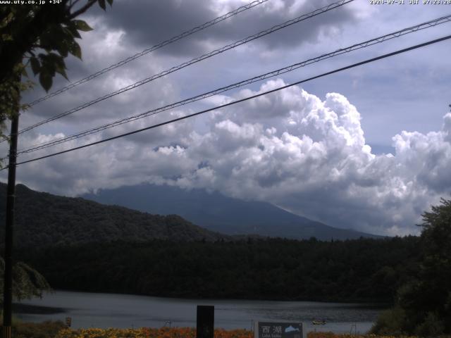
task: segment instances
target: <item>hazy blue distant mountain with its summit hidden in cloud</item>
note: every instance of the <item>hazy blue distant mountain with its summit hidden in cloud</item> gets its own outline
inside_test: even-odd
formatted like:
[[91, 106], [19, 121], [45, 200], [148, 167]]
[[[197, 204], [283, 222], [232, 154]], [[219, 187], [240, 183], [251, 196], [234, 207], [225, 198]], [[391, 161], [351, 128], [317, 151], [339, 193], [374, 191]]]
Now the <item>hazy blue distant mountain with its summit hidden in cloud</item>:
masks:
[[265, 202], [242, 201], [218, 192], [185, 190], [168, 185], [140, 184], [82, 195], [102, 204], [125, 206], [147, 213], [175, 213], [208, 230], [225, 234], [320, 240], [380, 238], [349, 229], [330, 227], [289, 213]]

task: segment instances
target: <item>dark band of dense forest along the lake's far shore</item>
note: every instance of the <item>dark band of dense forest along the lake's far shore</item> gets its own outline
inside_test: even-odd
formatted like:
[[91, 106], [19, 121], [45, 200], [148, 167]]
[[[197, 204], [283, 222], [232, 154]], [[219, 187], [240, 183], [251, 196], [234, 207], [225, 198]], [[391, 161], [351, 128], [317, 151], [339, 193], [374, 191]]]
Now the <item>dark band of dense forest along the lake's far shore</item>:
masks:
[[152, 296], [393, 301], [419, 238], [114, 242], [21, 249], [56, 289]]

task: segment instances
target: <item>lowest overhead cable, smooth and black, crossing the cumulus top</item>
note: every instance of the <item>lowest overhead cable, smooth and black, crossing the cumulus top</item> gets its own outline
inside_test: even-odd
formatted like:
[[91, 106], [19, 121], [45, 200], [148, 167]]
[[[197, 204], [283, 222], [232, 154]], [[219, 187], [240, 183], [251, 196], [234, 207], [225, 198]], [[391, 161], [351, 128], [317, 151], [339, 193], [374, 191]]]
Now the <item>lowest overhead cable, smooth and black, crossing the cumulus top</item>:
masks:
[[[187, 118], [192, 118], [193, 116], [197, 116], [197, 115], [201, 115], [201, 114], [204, 114], [204, 113], [208, 113], [209, 111], [214, 111], [216, 109], [225, 108], [227, 106], [232, 106], [234, 104], [239, 104], [240, 102], [248, 101], [250, 99], [255, 99], [255, 98], [259, 97], [259, 96], [264, 96], [264, 95], [267, 95], [267, 94], [271, 94], [273, 92], [278, 92], [278, 91], [280, 91], [282, 89], [293, 87], [293, 86], [295, 86], [297, 84], [301, 84], [301, 83], [304, 83], [304, 82], [307, 82], [307, 81], [318, 79], [319, 77], [324, 77], [324, 76], [327, 76], [327, 75], [332, 75], [332, 74], [335, 74], [335, 73], [339, 73], [339, 72], [341, 72], [343, 70], [354, 68], [354, 67], [357, 67], [359, 65], [364, 65], [366, 63], [371, 63], [371, 62], [374, 62], [374, 61], [378, 61], [378, 60], [381, 60], [383, 58], [388, 58], [390, 56], [395, 56], [397, 54], [402, 54], [402, 53], [404, 53], [406, 51], [412, 51], [413, 49], [418, 49], [418, 48], [421, 48], [421, 47], [424, 47], [424, 46], [428, 46], [430, 44], [435, 44], [437, 42], [442, 42], [442, 41], [445, 41], [447, 39], [451, 39], [451, 35], [447, 35], [445, 37], [440, 37], [439, 39], [433, 39], [433, 40], [430, 40], [428, 42], [424, 42], [422, 44], [416, 44], [414, 46], [410, 46], [410, 47], [407, 47], [407, 48], [404, 48], [404, 49], [393, 51], [392, 53], [383, 54], [381, 56], [377, 56], [376, 58], [370, 58], [370, 59], [367, 59], [365, 61], [361, 61], [361, 62], [358, 62], [358, 63], [353, 63], [352, 65], [347, 65], [345, 67], [338, 68], [338, 69], [335, 69], [335, 70], [331, 70], [330, 72], [323, 73], [321, 75], [316, 75], [314, 77], [309, 77], [308, 79], [305, 79], [305, 80], [300, 80], [300, 81], [297, 81], [297, 82], [292, 83], [292, 84], [287, 84], [287, 85], [285, 85], [283, 87], [278, 87], [276, 89], [271, 89], [271, 90], [268, 90], [268, 91], [263, 92], [263, 93], [255, 94], [255, 95], [252, 95], [252, 96], [248, 96], [248, 97], [246, 97], [244, 99], [239, 99], [239, 100], [236, 100], [236, 101], [232, 101], [232, 102], [229, 102], [228, 104], [222, 104], [221, 106], [216, 106], [214, 108], [205, 109], [204, 111], [198, 111], [197, 113], [192, 113], [190, 115], [185, 115], [185, 116], [182, 116], [180, 118], [174, 118], [173, 120], [168, 120], [166, 122], [158, 123], [156, 125], [150, 125], [149, 127], [144, 127], [144, 128], [139, 129], [139, 130], [133, 130], [132, 132], [126, 132], [124, 134], [120, 134], [120, 135], [117, 135], [117, 136], [114, 136], [114, 137], [109, 137], [107, 139], [102, 139], [102, 140], [97, 141], [97, 142], [84, 144], [82, 146], [76, 146], [75, 148], [71, 148], [71, 149], [67, 149], [67, 150], [63, 150], [63, 151], [58, 151], [56, 153], [49, 154], [49, 155], [46, 155], [46, 156], [40, 156], [40, 157], [37, 157], [37, 158], [32, 158], [32, 159], [27, 160], [27, 161], [18, 162], [17, 165], [30, 163], [30, 162], [34, 162], [34, 161], [39, 161], [39, 160], [42, 160], [44, 158], [49, 158], [49, 157], [53, 157], [53, 156], [56, 156], [56, 155], [66, 154], [66, 153], [68, 153], [70, 151], [75, 151], [75, 150], [78, 150], [78, 149], [87, 148], [88, 146], [94, 146], [96, 144], [101, 144], [101, 143], [104, 143], [104, 142], [112, 141], [113, 139], [119, 139], [121, 137], [129, 136], [129, 135], [132, 135], [132, 134], [137, 134], [138, 132], [143, 132], [144, 130], [150, 130], [150, 129], [154, 129], [156, 127], [161, 127], [163, 125], [168, 125], [170, 123], [175, 123], [175, 122], [180, 121], [180, 120], [185, 120]], [[8, 168], [8, 167], [2, 168], [0, 170], [4, 170], [6, 168]]]

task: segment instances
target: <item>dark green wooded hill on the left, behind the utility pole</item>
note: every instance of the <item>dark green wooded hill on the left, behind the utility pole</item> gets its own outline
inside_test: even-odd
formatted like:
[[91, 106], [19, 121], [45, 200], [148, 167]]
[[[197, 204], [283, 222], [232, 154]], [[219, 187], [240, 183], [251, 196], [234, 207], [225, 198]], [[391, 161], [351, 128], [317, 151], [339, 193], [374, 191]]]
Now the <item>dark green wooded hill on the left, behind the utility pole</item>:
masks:
[[[216, 241], [227, 239], [178, 215], [149, 215], [121, 206], [104, 206], [80, 198], [16, 187], [15, 246], [75, 245], [149, 239]], [[0, 183], [0, 222], [5, 222], [6, 184]], [[4, 227], [1, 227], [4, 232]], [[0, 241], [4, 235], [0, 234]]]

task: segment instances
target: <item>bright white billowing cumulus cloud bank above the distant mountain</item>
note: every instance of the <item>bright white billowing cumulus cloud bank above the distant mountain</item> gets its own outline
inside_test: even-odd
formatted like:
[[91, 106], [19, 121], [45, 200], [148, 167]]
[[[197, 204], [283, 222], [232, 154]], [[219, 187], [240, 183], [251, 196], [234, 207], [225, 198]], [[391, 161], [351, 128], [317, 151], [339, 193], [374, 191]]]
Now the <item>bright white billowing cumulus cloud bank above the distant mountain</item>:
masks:
[[63, 194], [140, 182], [217, 190], [377, 234], [416, 233], [421, 213], [451, 187], [451, 113], [438, 132], [395, 135], [388, 155], [372, 154], [345, 96], [297, 86], [216, 111], [203, 130], [190, 123], [23, 165], [19, 177]]

